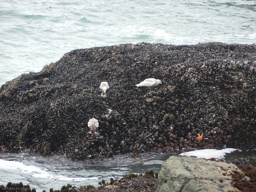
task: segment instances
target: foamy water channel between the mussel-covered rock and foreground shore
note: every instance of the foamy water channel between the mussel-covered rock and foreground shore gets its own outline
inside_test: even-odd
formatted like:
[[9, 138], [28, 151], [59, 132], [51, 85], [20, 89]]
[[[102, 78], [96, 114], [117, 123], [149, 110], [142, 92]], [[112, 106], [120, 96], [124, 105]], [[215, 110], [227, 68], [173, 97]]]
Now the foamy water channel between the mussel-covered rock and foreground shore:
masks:
[[[180, 152], [146, 152], [136, 158], [119, 156], [105, 159], [97, 164], [74, 162], [64, 157], [42, 157], [29, 154], [0, 154], [0, 185], [8, 182], [29, 184], [37, 192], [49, 191], [50, 188], [60, 190], [62, 186], [93, 185], [103, 179], [110, 182], [110, 178], [120, 179], [129, 173], [145, 173], [153, 169], [160, 172], [162, 163], [170, 156]], [[232, 156], [256, 156], [255, 150], [237, 150], [232, 148], [216, 150], [205, 149], [184, 152], [181, 155], [198, 156], [199, 158], [216, 158], [230, 160]]]

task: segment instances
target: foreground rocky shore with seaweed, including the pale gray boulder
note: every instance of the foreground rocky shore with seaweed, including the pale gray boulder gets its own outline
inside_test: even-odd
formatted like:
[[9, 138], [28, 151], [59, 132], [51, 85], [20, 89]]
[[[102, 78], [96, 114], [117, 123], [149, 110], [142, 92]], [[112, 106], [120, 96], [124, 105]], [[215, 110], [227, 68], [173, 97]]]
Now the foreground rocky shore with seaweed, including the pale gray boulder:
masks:
[[[172, 162], [173, 161], [173, 162]], [[210, 171], [209, 171], [210, 170]], [[171, 173], [170, 173], [171, 172]], [[159, 176], [158, 176], [159, 175]], [[169, 181], [172, 180], [174, 181]], [[188, 182], [186, 181], [188, 180]], [[168, 185], [167, 185], [168, 184]], [[168, 187], [167, 187], [168, 186]], [[170, 188], [172, 188], [170, 190]], [[128, 174], [120, 180], [102, 180], [99, 186], [72, 186], [67, 184], [50, 192], [169, 192], [180, 191], [254, 192], [256, 190], [256, 158], [232, 158], [228, 163], [186, 157], [171, 156], [160, 173], [153, 170], [145, 174]], [[17, 190], [18, 189], [18, 190]], [[209, 190], [211, 189], [211, 190]], [[29, 185], [8, 182], [0, 186], [0, 192], [36, 192]], [[46, 192], [46, 190], [43, 190]]]

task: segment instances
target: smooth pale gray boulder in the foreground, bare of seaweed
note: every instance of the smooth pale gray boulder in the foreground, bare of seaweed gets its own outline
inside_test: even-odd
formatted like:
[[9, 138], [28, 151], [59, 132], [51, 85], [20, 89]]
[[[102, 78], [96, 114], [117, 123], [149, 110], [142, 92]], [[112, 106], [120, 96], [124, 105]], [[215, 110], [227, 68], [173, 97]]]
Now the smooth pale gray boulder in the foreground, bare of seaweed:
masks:
[[231, 184], [230, 173], [242, 171], [232, 163], [197, 157], [171, 156], [162, 164], [158, 192], [239, 191]]

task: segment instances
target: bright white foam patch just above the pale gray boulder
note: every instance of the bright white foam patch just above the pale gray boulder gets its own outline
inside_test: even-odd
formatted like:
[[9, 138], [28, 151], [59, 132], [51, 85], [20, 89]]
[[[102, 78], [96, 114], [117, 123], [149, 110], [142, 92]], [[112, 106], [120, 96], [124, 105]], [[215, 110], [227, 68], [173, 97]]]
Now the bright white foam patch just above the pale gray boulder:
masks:
[[184, 152], [181, 153], [181, 156], [196, 156], [198, 158], [216, 158], [216, 159], [222, 159], [224, 158], [224, 155], [227, 153], [231, 153], [233, 151], [236, 151], [238, 149], [234, 148], [226, 148], [222, 150], [218, 149], [202, 149], [202, 150], [194, 150], [194, 151], [189, 151], [189, 152]]

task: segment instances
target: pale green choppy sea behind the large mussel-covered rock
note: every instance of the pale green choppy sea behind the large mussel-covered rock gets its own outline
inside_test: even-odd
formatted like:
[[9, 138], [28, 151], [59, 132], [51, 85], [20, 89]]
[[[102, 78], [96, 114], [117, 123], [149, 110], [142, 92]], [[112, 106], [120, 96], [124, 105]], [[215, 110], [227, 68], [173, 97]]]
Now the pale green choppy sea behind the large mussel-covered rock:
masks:
[[256, 42], [254, 0], [1, 0], [0, 85], [78, 48]]

